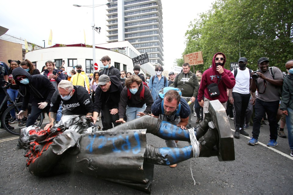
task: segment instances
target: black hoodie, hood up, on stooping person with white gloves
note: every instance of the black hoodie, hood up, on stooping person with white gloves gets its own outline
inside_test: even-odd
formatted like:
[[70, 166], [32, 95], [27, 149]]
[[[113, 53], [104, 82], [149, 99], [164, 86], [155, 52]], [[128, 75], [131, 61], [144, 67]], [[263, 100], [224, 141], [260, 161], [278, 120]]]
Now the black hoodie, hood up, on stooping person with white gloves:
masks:
[[[12, 75], [15, 83], [20, 86], [21, 94], [24, 95], [21, 110], [27, 108], [30, 98], [32, 99], [32, 106], [39, 106], [38, 103], [40, 102], [50, 104], [55, 88], [46, 76], [40, 74], [31, 75], [21, 67], [14, 69]], [[29, 83], [26, 85], [20, 83], [16, 80], [16, 76], [18, 75], [25, 75]]]

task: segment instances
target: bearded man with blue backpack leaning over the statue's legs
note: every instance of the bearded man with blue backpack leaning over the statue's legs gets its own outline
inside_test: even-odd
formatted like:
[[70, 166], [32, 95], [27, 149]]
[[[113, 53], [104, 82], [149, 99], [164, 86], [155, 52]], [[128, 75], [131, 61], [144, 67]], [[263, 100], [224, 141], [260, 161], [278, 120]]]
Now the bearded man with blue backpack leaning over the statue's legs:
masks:
[[[162, 106], [163, 104], [163, 106]], [[163, 121], [172, 123], [173, 125], [180, 126], [184, 129], [188, 125], [188, 118], [190, 115], [190, 108], [184, 98], [180, 97], [179, 93], [175, 90], [168, 90], [164, 99], [158, 97], [152, 105], [152, 114], [156, 118], [161, 118]], [[178, 118], [180, 121], [178, 122]], [[177, 147], [175, 140], [165, 140], [167, 147]], [[175, 167], [170, 165], [170, 167]]]

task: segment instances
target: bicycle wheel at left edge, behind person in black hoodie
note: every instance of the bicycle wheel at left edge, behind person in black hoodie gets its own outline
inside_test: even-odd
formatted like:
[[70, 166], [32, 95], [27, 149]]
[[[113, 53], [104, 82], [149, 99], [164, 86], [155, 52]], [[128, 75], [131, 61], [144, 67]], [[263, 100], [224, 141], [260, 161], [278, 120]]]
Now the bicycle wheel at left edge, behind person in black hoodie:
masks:
[[[22, 102], [17, 103], [18, 110], [20, 110], [21, 106], [22, 106]], [[2, 125], [6, 129], [6, 131], [8, 131], [9, 133], [11, 133], [13, 135], [19, 135], [20, 130], [26, 126], [26, 121], [25, 120], [15, 121], [15, 118], [13, 118], [11, 116], [10, 111], [15, 112], [15, 116], [18, 115], [17, 109], [15, 108], [14, 105], [8, 107], [5, 110], [5, 112], [4, 112], [3, 116], [2, 116], [2, 120], [1, 120]], [[28, 114], [27, 114], [28, 117], [29, 117], [30, 114], [31, 114], [31, 104], [28, 104]], [[41, 126], [42, 122], [43, 122], [43, 119], [44, 119], [44, 115], [41, 112], [40, 121], [37, 120], [35, 122], [35, 125], [36, 126]]]

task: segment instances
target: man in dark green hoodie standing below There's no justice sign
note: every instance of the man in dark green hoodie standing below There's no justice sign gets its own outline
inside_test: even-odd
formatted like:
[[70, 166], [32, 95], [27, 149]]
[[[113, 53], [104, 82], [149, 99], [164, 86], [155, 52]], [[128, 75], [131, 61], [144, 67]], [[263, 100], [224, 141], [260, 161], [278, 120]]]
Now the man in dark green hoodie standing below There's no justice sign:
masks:
[[194, 101], [198, 94], [198, 79], [197, 76], [190, 71], [189, 63], [184, 63], [182, 65], [182, 72], [176, 76], [173, 85], [179, 89], [183, 89], [181, 90], [182, 97], [186, 100], [186, 102], [189, 102], [190, 115], [187, 127], [189, 129], [191, 128]]

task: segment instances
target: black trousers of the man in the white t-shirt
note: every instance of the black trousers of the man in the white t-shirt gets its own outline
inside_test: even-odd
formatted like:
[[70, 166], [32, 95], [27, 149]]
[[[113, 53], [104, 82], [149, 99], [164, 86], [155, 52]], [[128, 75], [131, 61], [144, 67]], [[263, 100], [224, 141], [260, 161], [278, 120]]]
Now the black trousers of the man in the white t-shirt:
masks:
[[245, 112], [248, 107], [250, 94], [240, 94], [237, 92], [232, 92], [232, 97], [234, 99], [233, 104], [233, 116], [235, 130], [239, 131], [243, 128], [245, 121]]

